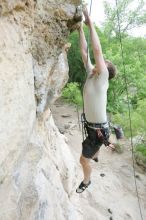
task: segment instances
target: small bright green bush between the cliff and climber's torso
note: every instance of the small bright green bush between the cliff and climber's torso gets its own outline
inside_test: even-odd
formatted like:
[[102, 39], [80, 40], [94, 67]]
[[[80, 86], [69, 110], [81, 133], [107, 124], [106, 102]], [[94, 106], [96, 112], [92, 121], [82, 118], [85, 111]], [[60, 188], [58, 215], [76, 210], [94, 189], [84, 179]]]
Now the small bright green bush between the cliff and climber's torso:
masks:
[[62, 91], [62, 97], [69, 103], [73, 103], [78, 106], [82, 106], [82, 95], [79, 89], [79, 84], [68, 83]]

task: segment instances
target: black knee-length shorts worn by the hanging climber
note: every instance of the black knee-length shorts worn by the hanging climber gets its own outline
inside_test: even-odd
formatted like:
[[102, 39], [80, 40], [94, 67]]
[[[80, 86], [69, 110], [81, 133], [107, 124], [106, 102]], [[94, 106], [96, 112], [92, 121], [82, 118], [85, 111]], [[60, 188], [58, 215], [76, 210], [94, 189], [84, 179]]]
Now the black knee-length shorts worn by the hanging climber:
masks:
[[109, 128], [100, 128], [104, 141], [98, 137], [97, 130], [86, 126], [87, 137], [82, 143], [82, 155], [86, 158], [92, 158], [100, 149], [101, 145], [108, 142]]

